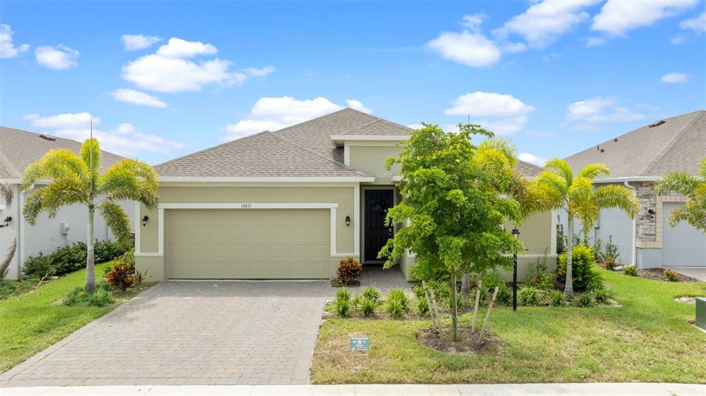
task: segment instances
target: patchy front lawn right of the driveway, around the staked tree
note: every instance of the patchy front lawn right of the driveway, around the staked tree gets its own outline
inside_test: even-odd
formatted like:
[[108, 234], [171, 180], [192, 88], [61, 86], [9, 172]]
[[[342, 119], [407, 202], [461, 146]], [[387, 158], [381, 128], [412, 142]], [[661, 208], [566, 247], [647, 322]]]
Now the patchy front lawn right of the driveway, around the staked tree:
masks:
[[[622, 307], [493, 308], [496, 354], [445, 354], [424, 347], [430, 321], [333, 318], [319, 333], [313, 383], [706, 383], [706, 334], [694, 305], [674, 297], [706, 295], [706, 283], [669, 283], [600, 270]], [[470, 316], [461, 316], [469, 326]], [[481, 316], [482, 318], [482, 316]], [[352, 360], [350, 335], [369, 336], [367, 358]]]

